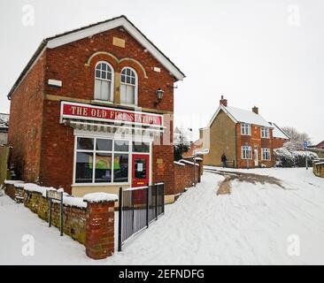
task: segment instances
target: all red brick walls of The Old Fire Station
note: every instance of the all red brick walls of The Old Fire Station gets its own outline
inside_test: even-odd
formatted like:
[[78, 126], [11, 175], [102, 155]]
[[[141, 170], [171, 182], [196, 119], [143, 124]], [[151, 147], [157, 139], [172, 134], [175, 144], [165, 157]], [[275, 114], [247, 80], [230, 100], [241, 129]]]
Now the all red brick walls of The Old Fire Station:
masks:
[[[126, 48], [112, 45], [113, 36], [124, 39]], [[123, 60], [118, 63], [108, 55], [93, 57], [90, 65], [87, 65], [89, 57], [98, 51], [109, 52], [119, 60], [130, 57], [139, 61], [147, 78], [144, 77], [142, 68], [133, 61]], [[120, 28], [46, 50], [42, 60], [37, 62], [12, 96], [9, 142], [14, 147], [12, 162], [19, 168], [22, 180], [35, 181], [39, 178], [44, 186], [64, 187], [66, 192], [71, 193], [73, 129], [59, 125], [59, 101], [43, 100], [43, 94], [93, 100], [95, 65], [100, 60], [109, 62], [118, 73], [126, 65], [135, 69], [138, 75], [139, 107], [173, 113], [174, 91], [170, 87], [174, 85], [174, 77], [130, 34]], [[154, 72], [153, 67], [159, 67], [161, 72]], [[62, 80], [62, 88], [48, 86], [49, 79]], [[164, 90], [164, 97], [157, 105], [158, 88]], [[173, 125], [171, 123], [166, 126], [169, 141], [165, 145], [153, 147], [153, 182], [164, 181], [166, 194], [172, 194]]]

